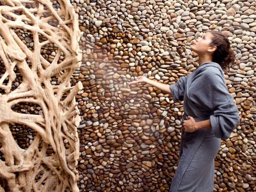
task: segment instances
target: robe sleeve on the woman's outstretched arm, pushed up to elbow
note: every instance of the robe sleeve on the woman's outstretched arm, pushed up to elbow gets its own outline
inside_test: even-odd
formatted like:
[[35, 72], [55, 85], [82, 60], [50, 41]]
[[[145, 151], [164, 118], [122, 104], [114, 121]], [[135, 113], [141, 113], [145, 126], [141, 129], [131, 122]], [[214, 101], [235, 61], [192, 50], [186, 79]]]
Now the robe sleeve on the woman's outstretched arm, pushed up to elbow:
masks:
[[170, 90], [172, 92], [174, 102], [183, 100], [187, 79], [186, 77], [187, 76], [182, 76], [175, 84], [170, 85]]

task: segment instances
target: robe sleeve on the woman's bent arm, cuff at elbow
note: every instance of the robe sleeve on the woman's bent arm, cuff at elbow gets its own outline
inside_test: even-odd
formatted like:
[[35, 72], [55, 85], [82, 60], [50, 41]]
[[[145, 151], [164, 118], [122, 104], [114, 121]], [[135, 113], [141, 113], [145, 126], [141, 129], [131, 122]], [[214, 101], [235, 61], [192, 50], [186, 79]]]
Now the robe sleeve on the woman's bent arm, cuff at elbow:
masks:
[[217, 138], [227, 139], [240, 122], [238, 108], [228, 92], [224, 77], [218, 69], [202, 72], [196, 81], [200, 86], [192, 98], [213, 112], [210, 123]]

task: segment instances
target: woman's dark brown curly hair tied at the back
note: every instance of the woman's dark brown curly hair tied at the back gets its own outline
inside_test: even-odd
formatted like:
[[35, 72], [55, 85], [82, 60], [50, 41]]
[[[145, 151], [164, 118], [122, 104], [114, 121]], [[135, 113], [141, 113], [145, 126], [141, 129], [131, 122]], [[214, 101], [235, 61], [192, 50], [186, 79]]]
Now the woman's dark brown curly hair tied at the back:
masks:
[[216, 46], [217, 49], [212, 55], [212, 61], [220, 64], [223, 70], [228, 70], [234, 64], [235, 55], [233, 48], [230, 46], [228, 38], [218, 31], [208, 31], [213, 35], [210, 46]]

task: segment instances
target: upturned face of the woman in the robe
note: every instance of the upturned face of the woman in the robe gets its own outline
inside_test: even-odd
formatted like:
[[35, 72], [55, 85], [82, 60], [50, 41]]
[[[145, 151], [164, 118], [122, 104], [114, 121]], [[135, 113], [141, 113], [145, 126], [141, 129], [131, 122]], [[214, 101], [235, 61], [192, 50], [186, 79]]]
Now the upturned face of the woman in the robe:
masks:
[[204, 54], [211, 51], [209, 48], [212, 48], [210, 46], [212, 38], [214, 37], [210, 32], [205, 33], [202, 38], [196, 39], [196, 42], [190, 46], [191, 50], [197, 54]]

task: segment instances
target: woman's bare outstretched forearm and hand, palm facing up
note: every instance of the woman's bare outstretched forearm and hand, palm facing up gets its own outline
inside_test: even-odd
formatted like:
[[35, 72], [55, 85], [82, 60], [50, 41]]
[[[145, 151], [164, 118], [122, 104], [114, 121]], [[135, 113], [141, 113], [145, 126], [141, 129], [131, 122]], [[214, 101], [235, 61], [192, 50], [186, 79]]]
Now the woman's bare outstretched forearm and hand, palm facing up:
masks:
[[138, 84], [138, 83], [143, 83], [143, 82], [148, 83], [148, 84], [150, 84], [150, 85], [152, 85], [152, 86], [154, 86], [154, 87], [172, 95], [172, 92], [170, 90], [170, 85], [153, 81], [149, 78], [146, 78], [145, 76], [138, 76], [137, 80], [132, 81], [132, 82], [128, 82], [128, 85]]

